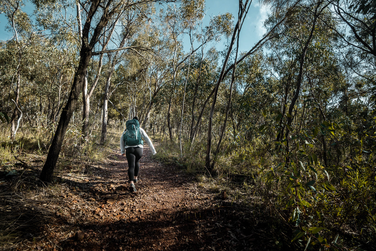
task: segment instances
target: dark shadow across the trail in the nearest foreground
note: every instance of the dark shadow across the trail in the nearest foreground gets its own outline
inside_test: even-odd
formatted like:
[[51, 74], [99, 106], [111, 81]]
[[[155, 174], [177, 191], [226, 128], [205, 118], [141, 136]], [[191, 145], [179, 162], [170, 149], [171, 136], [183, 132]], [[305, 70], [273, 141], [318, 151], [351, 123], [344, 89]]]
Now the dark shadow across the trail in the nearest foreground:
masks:
[[[182, 208], [173, 214], [156, 210], [139, 216], [143, 219], [82, 226], [82, 231], [96, 231], [87, 241], [68, 240], [62, 247], [68, 250], [89, 247], [91, 250], [276, 250], [275, 243], [268, 243], [270, 230], [256, 226], [253, 219], [240, 219], [239, 212], [231, 208], [196, 211]], [[97, 235], [105, 237], [95, 242]], [[284, 249], [290, 248], [278, 250]]]

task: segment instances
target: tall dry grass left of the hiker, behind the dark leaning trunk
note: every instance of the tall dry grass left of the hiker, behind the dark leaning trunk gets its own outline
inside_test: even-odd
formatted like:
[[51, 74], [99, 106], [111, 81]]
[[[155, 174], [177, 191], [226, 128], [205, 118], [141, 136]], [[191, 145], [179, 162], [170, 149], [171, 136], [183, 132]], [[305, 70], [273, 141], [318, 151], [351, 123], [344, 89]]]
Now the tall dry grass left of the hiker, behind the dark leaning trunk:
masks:
[[[30, 158], [44, 160], [50, 148], [56, 124], [47, 126], [20, 127], [15, 140], [10, 139], [10, 128], [7, 124], [0, 125], [0, 158], [2, 165], [15, 164], [14, 156], [29, 155]], [[112, 149], [118, 148], [118, 137], [121, 132], [108, 132], [105, 144], [100, 144], [100, 132], [89, 135], [86, 141], [82, 140], [79, 125], [71, 125], [63, 141], [56, 171], [64, 169], [88, 169], [90, 163], [100, 161], [113, 154]], [[116, 148], [115, 148], [116, 149]], [[11, 165], [12, 166], [12, 165]]]

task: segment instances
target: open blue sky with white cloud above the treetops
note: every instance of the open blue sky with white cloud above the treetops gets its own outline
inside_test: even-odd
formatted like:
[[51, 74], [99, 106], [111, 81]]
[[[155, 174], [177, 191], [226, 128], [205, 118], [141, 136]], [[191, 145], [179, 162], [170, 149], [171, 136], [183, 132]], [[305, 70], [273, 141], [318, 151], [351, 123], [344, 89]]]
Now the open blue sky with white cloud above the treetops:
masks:
[[[205, 5], [207, 12], [204, 21], [209, 20], [210, 17], [218, 14], [224, 14], [226, 12], [230, 12], [235, 18], [238, 15], [238, 0], [206, 0]], [[23, 10], [31, 14], [34, 10], [34, 6], [32, 4], [26, 4]], [[250, 50], [265, 33], [262, 22], [267, 17], [267, 13], [267, 7], [260, 7], [258, 1], [253, 0], [250, 6], [250, 11], [247, 14], [244, 22], [243, 30], [240, 34], [240, 51]], [[5, 30], [7, 25], [8, 23], [5, 15], [0, 14], [0, 40], [8, 40], [12, 36], [12, 34], [6, 32]], [[224, 42], [225, 41], [221, 41], [219, 44], [217, 44], [218, 49], [223, 48]]]

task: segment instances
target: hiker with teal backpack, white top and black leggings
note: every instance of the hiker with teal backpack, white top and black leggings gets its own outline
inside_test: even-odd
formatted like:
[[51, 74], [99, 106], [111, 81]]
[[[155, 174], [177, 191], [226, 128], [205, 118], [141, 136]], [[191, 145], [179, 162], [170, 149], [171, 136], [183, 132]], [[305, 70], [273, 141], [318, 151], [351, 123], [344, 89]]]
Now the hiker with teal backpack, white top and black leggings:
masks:
[[136, 192], [134, 183], [137, 183], [137, 176], [140, 169], [138, 161], [144, 152], [144, 141], [142, 138], [144, 138], [150, 150], [152, 150], [152, 154], [156, 154], [157, 152], [154, 149], [153, 143], [144, 129], [140, 127], [138, 118], [134, 117], [133, 119], [128, 120], [126, 122], [126, 130], [120, 137], [120, 153], [127, 157], [130, 192]]

